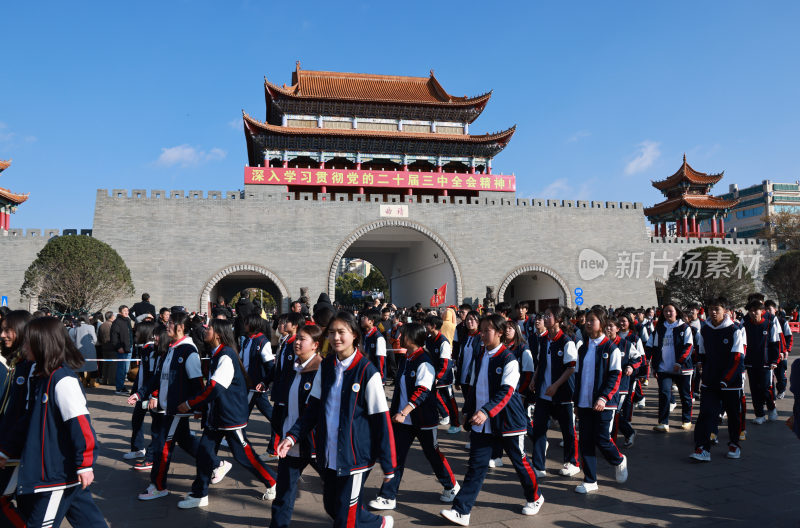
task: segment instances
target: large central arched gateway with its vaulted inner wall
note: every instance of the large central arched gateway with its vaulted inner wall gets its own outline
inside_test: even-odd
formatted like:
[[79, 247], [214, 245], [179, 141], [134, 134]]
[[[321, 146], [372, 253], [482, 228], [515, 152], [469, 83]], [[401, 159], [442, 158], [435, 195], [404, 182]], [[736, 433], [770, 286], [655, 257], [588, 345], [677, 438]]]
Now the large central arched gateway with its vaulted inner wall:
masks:
[[447, 284], [447, 304], [462, 299], [461, 271], [452, 251], [433, 231], [408, 220], [386, 219], [356, 229], [339, 246], [331, 262], [328, 294], [333, 298], [343, 258], [362, 258], [375, 265], [389, 283], [392, 302], [427, 305], [435, 288]]

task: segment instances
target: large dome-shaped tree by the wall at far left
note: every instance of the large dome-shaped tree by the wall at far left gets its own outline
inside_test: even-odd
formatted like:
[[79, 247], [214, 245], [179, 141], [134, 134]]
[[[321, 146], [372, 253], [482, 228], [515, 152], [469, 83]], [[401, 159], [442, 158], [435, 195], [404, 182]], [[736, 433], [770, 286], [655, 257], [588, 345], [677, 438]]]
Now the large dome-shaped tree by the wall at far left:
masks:
[[62, 313], [103, 310], [135, 292], [122, 257], [96, 238], [51, 238], [25, 272], [22, 297]]

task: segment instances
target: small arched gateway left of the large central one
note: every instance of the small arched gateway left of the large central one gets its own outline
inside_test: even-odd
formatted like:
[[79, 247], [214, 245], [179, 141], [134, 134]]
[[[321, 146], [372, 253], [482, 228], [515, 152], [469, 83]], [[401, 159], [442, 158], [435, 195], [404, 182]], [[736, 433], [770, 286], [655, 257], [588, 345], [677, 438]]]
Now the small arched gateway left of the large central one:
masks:
[[250, 263], [233, 264], [216, 272], [207, 282], [200, 294], [200, 311], [211, 310], [211, 304], [222, 296], [227, 301], [247, 288], [259, 288], [268, 292], [278, 306], [284, 306], [289, 298], [289, 290], [277, 275], [263, 266]]

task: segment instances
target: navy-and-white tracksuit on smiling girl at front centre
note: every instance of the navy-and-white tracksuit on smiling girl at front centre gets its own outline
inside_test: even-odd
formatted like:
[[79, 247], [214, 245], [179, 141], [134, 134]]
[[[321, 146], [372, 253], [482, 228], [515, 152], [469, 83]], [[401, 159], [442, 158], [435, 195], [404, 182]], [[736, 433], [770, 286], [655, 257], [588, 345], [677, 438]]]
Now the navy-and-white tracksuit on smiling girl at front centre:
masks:
[[361, 491], [376, 459], [391, 478], [397, 458], [381, 375], [360, 351], [344, 361], [336, 354], [322, 360], [308, 408], [286, 438], [296, 443], [312, 430], [333, 526], [381, 527], [383, 517], [364, 508]]

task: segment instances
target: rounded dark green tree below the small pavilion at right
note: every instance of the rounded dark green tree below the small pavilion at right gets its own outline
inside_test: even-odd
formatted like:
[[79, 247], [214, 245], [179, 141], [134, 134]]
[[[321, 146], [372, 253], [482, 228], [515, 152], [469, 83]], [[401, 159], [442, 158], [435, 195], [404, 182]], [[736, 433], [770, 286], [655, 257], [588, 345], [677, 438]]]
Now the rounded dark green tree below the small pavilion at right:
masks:
[[736, 254], [725, 248], [705, 246], [683, 254], [667, 280], [666, 296], [684, 307], [725, 297], [732, 306], [743, 306], [755, 291], [753, 277]]

